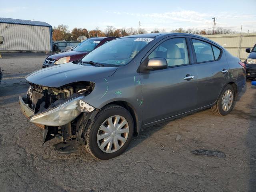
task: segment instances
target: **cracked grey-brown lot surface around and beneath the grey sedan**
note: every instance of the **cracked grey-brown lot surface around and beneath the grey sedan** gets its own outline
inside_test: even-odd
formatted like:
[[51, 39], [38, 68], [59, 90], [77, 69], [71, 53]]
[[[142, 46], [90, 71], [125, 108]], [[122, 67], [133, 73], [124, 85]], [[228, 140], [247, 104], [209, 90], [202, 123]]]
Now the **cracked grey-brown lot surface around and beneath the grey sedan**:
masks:
[[[256, 88], [250, 82], [231, 114], [208, 109], [146, 128], [121, 156], [95, 160], [83, 146], [58, 154], [52, 149], [57, 138], [42, 146], [42, 129], [20, 111], [24, 76], [42, 67], [45, 54], [2, 56], [0, 191], [256, 191]], [[197, 149], [226, 158], [192, 154]]]

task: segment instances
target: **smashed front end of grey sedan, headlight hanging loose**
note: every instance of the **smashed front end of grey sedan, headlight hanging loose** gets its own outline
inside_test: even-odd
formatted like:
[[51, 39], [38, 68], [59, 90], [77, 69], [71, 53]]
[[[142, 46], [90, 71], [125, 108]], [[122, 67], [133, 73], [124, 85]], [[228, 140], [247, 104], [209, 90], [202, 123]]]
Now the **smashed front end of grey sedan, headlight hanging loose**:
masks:
[[[67, 142], [84, 141], [83, 124], [95, 110], [82, 98], [94, 89], [93, 82], [76, 82], [60, 88], [30, 83], [26, 96], [20, 96], [22, 112], [30, 122], [44, 128], [43, 142], [55, 136]], [[87, 118], [86, 118], [87, 117]]]

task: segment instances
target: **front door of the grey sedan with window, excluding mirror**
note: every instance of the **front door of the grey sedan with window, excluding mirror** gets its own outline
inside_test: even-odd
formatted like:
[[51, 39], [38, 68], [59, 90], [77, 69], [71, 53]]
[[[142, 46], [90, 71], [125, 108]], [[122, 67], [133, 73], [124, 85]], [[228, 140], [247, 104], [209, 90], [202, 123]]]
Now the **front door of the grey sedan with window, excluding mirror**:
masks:
[[168, 68], [140, 73], [143, 124], [196, 108], [197, 74], [187, 42], [184, 37], [162, 40], [146, 56], [145, 60], [165, 58]]

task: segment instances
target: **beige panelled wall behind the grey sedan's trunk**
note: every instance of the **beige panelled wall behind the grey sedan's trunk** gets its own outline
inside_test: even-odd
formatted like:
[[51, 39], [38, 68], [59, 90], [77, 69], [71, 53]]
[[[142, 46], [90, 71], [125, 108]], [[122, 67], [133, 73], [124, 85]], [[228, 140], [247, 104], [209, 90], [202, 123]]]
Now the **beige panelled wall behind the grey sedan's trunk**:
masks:
[[248, 53], [246, 48], [252, 48], [256, 44], [256, 33], [238, 33], [238, 34], [221, 34], [221, 35], [202, 35], [205, 38], [217, 42], [223, 46], [233, 56], [246, 60]]

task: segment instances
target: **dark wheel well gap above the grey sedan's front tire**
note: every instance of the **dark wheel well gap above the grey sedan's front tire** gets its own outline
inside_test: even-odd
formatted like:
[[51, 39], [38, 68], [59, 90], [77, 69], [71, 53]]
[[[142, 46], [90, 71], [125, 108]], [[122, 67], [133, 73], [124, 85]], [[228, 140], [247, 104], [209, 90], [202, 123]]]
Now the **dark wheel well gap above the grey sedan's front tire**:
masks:
[[123, 108], [126, 108], [130, 112], [130, 114], [132, 115], [133, 122], [134, 122], [134, 135], [138, 135], [140, 125], [138, 125], [138, 115], [137, 115], [135, 109], [132, 107], [132, 105], [125, 101], [114, 101], [109, 104], [120, 105]]

